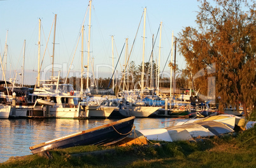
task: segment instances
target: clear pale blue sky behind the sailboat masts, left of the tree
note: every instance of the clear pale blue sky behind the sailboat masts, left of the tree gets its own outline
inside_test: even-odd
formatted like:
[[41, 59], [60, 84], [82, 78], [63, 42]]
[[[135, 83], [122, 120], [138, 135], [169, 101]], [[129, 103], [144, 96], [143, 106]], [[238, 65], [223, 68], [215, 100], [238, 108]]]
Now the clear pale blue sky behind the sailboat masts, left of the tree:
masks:
[[[81, 39], [78, 36], [82, 27], [83, 18], [87, 11], [88, 0], [6, 0], [0, 1], [0, 53], [3, 56], [6, 31], [8, 30], [8, 73], [7, 79], [14, 77], [15, 70], [20, 73], [22, 66], [23, 44], [25, 47], [25, 84], [34, 84], [38, 62], [38, 19], [41, 18], [43, 30], [41, 30], [41, 58], [46, 47], [46, 41], [50, 34], [54, 14], [57, 14], [57, 28], [55, 40], [55, 63], [60, 70], [69, 67], [71, 58], [76, 49], [75, 60], [71, 75], [78, 75], [81, 67]], [[152, 49], [152, 35], [157, 34], [160, 22], [162, 22], [162, 39], [160, 68], [164, 67], [167, 56], [171, 50], [171, 34], [177, 36], [184, 27], [195, 27], [196, 11], [199, 3], [196, 0], [93, 0], [91, 18], [90, 55], [94, 58], [94, 67], [97, 67], [98, 77], [110, 77], [112, 71], [111, 60], [111, 36], [115, 41], [115, 64], [120, 55], [125, 38], [129, 38], [128, 50], [130, 52], [132, 42], [139, 26], [139, 20], [146, 7], [146, 48], [145, 61], [148, 61]], [[85, 19], [85, 41], [88, 37], [89, 14]], [[143, 22], [139, 27], [138, 37], [132, 50], [130, 61], [136, 65], [142, 61], [143, 46]], [[49, 69], [52, 58], [53, 30], [50, 35], [48, 49], [46, 50], [43, 70]], [[84, 50], [87, 44], [84, 42]], [[120, 58], [120, 64], [124, 65], [125, 50]], [[159, 56], [159, 36], [153, 51], [155, 59]], [[177, 53], [179, 68], [185, 68], [183, 56]], [[170, 58], [169, 58], [170, 60]], [[84, 65], [87, 65], [87, 53], [84, 53]], [[34, 70], [34, 71], [33, 71]], [[120, 65], [118, 65], [120, 72]], [[11, 71], [11, 72], [10, 72]], [[57, 69], [56, 69], [57, 71]], [[96, 71], [96, 70], [95, 70]], [[166, 73], [169, 67], [165, 68]], [[91, 72], [91, 70], [90, 70]], [[57, 75], [57, 73], [55, 73]], [[62, 74], [62, 77], [66, 77]]]

